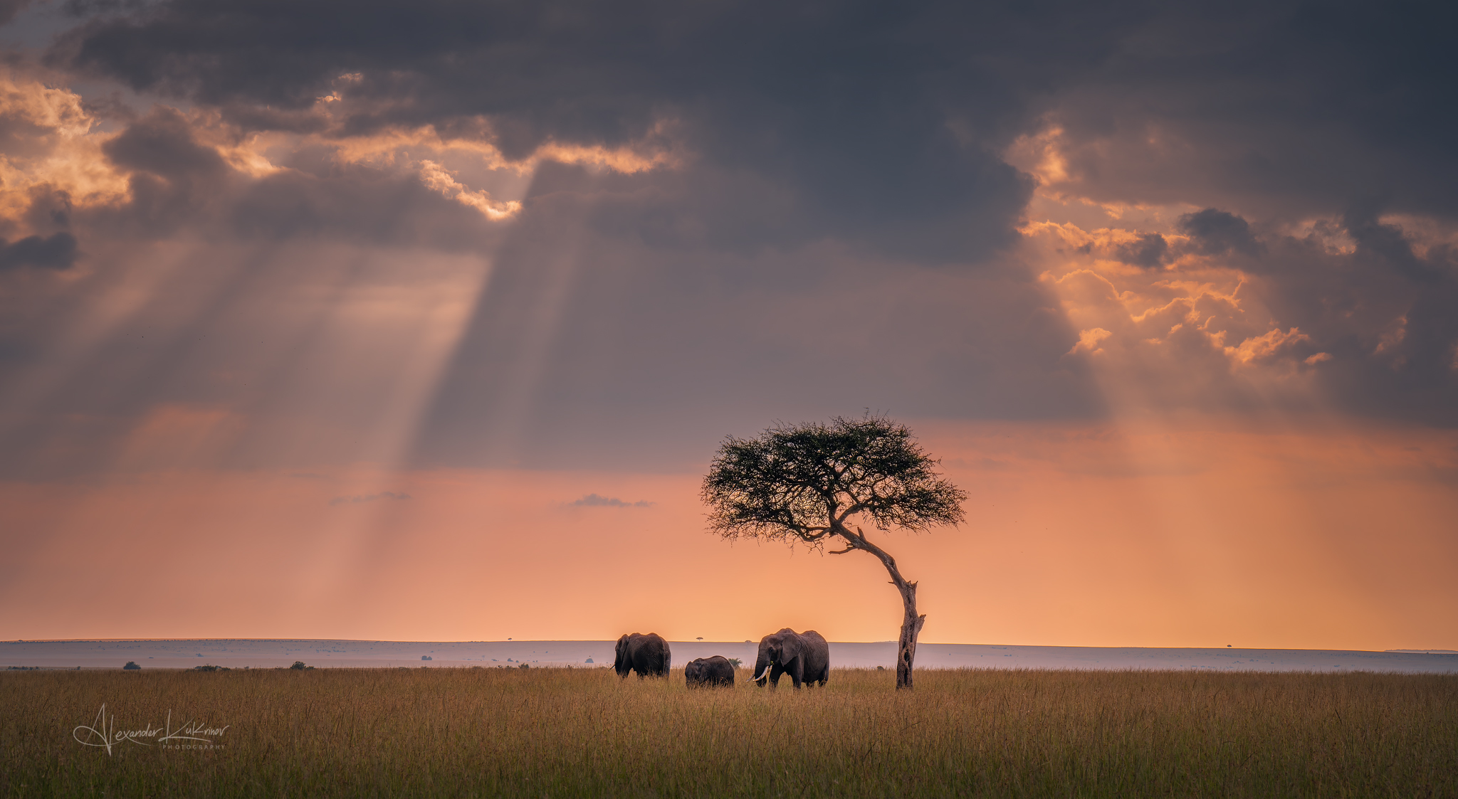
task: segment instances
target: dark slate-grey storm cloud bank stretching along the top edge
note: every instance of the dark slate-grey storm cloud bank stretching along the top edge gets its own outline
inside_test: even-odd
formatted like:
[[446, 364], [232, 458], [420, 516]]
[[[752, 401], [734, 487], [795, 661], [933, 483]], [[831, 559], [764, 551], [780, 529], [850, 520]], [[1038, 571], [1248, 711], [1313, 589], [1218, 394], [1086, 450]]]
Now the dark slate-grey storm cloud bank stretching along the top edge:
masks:
[[1455, 22], [1439, 3], [178, 0], [95, 15], [51, 61], [260, 128], [321, 130], [331, 92], [337, 134], [484, 118], [510, 157], [672, 118], [781, 200], [783, 225], [741, 241], [970, 261], [1009, 241], [1028, 185], [996, 153], [1044, 114], [1099, 198], [1452, 216]]

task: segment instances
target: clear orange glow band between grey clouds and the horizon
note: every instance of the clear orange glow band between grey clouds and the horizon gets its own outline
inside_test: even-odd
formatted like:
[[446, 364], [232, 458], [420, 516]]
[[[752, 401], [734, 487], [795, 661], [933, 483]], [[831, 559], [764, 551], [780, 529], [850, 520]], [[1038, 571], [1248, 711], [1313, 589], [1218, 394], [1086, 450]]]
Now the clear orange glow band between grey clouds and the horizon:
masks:
[[[921, 583], [923, 640], [1458, 647], [1458, 434], [924, 423], [921, 440], [970, 493], [959, 529], [885, 539]], [[12, 483], [7, 526], [35, 535], [0, 637], [895, 637], [879, 563], [719, 541], [697, 486], [486, 469]], [[410, 499], [331, 504], [382, 491]], [[570, 504], [589, 493], [653, 504]]]

